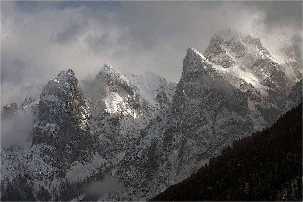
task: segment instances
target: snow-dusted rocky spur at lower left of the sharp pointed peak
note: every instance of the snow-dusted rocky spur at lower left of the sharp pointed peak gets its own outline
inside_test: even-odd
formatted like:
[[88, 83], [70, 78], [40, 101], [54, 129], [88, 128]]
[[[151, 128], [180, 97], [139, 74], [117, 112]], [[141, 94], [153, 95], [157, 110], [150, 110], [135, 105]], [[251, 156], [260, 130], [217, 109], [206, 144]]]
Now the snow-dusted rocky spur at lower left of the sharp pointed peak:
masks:
[[[126, 151], [121, 160], [121, 167], [116, 175], [125, 188], [110, 195], [106, 200], [145, 200], [148, 190], [152, 187], [154, 173], [157, 170], [155, 147], [162, 137], [161, 131], [165, 121], [160, 116], [154, 118], [145, 130], [140, 132], [138, 139]], [[162, 186], [161, 188], [164, 188]], [[161, 190], [159, 187], [159, 190]]]

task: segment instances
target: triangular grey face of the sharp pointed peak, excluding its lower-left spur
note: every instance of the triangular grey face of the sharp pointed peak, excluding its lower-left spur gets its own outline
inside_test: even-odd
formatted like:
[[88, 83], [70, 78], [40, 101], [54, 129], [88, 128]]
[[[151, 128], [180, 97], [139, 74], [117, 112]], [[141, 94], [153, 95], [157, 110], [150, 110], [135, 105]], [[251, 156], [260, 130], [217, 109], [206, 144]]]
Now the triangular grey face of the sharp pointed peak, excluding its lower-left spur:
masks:
[[250, 134], [253, 126], [245, 94], [193, 48], [183, 60], [167, 116], [163, 154], [175, 181], [195, 171], [221, 147]]

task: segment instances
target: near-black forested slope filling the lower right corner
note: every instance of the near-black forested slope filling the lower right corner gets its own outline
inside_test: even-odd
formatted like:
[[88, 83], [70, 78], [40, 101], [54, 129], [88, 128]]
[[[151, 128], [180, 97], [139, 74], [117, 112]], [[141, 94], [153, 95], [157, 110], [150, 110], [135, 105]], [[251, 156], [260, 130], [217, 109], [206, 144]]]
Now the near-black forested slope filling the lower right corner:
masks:
[[302, 201], [302, 101], [150, 201]]

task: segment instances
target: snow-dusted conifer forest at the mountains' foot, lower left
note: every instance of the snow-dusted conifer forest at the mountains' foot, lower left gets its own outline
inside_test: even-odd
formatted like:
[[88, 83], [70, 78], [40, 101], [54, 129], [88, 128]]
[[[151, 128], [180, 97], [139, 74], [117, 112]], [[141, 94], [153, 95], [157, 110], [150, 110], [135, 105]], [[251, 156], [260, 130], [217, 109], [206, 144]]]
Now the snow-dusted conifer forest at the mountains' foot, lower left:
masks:
[[[5, 177], [1, 181], [1, 201], [96, 201], [96, 196], [86, 194], [85, 188], [94, 181], [103, 181], [106, 177], [112, 176], [112, 169], [120, 166], [120, 162], [100, 164], [90, 177], [78, 180], [68, 180], [67, 178], [58, 178], [59, 185], [51, 187], [51, 185], [44, 187], [40, 186], [40, 190], [33, 193], [32, 187], [24, 175], [19, 174], [13, 180]], [[16, 168], [20, 172], [20, 168]]]

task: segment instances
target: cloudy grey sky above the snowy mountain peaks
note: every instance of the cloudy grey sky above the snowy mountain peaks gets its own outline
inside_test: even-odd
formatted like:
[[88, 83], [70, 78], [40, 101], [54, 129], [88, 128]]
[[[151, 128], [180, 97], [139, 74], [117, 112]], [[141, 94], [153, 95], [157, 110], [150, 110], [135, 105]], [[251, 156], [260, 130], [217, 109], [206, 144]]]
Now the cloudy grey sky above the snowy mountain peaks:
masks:
[[1, 108], [39, 97], [68, 68], [80, 82], [104, 63], [178, 82], [187, 48], [204, 53], [226, 27], [276, 51], [287, 38], [302, 38], [302, 1], [1, 1]]

